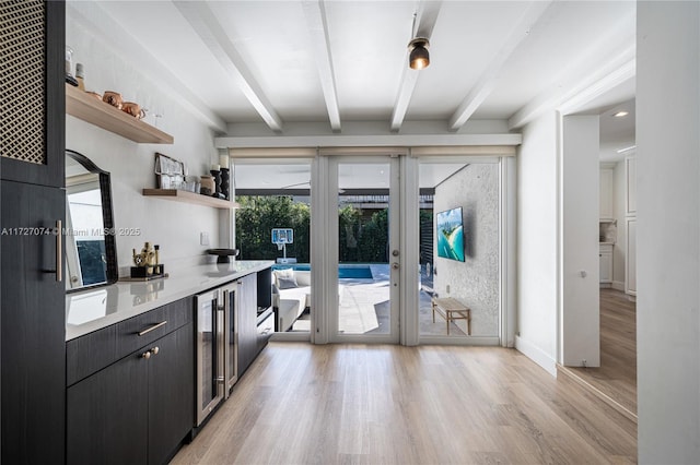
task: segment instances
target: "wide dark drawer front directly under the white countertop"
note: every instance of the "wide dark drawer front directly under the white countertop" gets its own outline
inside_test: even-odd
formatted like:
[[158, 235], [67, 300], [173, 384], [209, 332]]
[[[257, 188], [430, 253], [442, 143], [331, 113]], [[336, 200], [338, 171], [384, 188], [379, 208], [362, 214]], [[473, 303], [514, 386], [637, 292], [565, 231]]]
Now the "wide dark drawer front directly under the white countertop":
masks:
[[192, 321], [191, 297], [86, 334], [66, 344], [67, 385]]

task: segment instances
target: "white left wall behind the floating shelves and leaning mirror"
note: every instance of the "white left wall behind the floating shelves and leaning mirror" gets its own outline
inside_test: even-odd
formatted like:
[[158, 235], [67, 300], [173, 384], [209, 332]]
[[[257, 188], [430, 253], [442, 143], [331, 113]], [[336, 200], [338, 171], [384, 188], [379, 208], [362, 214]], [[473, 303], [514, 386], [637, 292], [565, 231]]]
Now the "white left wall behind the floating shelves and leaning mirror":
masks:
[[[131, 249], [140, 250], [144, 241], [161, 246], [161, 260], [166, 271], [209, 261], [199, 245], [199, 233], [207, 231], [210, 247], [218, 247], [218, 211], [185, 203], [150, 199], [142, 188], [155, 187], [153, 162], [155, 152], [182, 159], [191, 175], [203, 175], [218, 159], [213, 133], [188, 115], [177, 96], [160, 92], [158, 76], [141, 74], [118, 50], [105, 46], [70, 16], [67, 17], [66, 41], [74, 49], [73, 62], [85, 67], [85, 86], [102, 93], [117, 91], [125, 99], [158, 108], [164, 116], [159, 129], [175, 138], [173, 145], [137, 144], [85, 121], [67, 117], [66, 146], [91, 158], [112, 174], [112, 193], [117, 228], [140, 228], [140, 236], [117, 235], [117, 260], [120, 274], [132, 264]], [[106, 105], [106, 104], [105, 104]], [[147, 122], [154, 124], [152, 116]], [[217, 162], [218, 163], [218, 162]]]

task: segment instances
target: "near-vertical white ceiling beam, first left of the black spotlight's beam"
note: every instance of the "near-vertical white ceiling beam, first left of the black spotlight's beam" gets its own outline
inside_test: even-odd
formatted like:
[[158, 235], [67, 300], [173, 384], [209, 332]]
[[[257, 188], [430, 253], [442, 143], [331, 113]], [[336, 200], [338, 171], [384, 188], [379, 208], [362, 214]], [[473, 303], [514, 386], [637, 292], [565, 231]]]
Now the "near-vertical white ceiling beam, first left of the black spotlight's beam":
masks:
[[318, 79], [324, 91], [328, 119], [332, 132], [340, 132], [340, 109], [338, 107], [338, 93], [336, 91], [336, 76], [330, 55], [330, 39], [328, 37], [328, 22], [324, 0], [307, 0], [302, 2], [311, 45], [318, 68]]

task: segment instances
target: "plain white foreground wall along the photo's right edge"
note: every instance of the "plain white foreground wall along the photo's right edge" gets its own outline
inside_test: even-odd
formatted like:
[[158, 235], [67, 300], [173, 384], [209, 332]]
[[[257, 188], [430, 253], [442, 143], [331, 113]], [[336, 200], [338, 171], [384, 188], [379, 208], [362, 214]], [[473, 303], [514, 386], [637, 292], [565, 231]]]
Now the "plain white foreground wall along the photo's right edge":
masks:
[[700, 457], [700, 3], [638, 2], [638, 443]]

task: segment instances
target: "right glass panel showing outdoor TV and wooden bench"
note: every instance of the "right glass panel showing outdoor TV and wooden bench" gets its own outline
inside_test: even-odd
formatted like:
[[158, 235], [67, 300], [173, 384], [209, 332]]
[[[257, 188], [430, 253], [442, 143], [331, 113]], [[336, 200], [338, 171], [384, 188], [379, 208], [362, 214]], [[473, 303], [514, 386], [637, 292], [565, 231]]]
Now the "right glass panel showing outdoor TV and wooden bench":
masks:
[[419, 180], [421, 342], [498, 338], [499, 165], [422, 160]]

